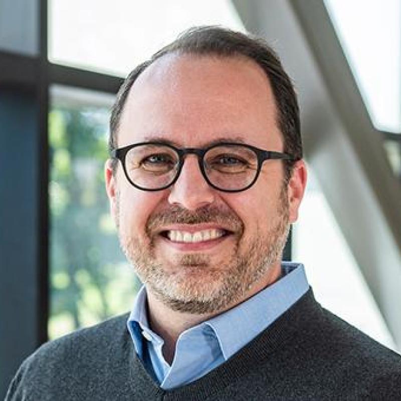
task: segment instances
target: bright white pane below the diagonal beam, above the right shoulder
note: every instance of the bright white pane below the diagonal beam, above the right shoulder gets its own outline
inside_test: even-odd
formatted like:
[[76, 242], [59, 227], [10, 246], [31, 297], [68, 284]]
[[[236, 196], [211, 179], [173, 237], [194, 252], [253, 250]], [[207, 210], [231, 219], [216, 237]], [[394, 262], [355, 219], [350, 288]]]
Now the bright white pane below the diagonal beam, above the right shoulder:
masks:
[[316, 299], [324, 307], [395, 350], [311, 168], [299, 220], [293, 227], [293, 260], [305, 264]]

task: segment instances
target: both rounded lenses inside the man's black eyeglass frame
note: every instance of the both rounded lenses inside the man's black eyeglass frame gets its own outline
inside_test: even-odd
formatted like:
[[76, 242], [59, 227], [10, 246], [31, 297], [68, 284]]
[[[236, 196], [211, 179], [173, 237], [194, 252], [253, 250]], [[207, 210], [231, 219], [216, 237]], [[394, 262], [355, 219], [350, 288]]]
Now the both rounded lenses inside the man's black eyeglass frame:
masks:
[[[258, 171], [258, 157], [246, 146], [219, 145], [205, 153], [203, 165], [213, 185], [226, 190], [239, 190], [254, 180]], [[175, 179], [179, 156], [168, 146], [135, 146], [126, 154], [125, 168], [135, 185], [145, 189], [163, 188]]]

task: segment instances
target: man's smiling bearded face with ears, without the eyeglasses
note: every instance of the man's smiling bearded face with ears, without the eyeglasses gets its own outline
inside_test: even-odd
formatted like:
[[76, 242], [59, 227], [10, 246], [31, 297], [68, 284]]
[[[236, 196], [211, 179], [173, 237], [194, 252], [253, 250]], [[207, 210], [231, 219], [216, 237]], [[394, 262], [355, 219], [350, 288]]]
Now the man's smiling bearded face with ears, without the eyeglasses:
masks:
[[[165, 140], [206, 147], [237, 140], [282, 151], [275, 115], [269, 82], [252, 61], [169, 55], [134, 83], [118, 146]], [[225, 193], [208, 185], [190, 154], [167, 189], [139, 190], [120, 165], [114, 177], [108, 163], [106, 186], [121, 247], [149, 296], [173, 310], [214, 313], [277, 279], [305, 168], [298, 162], [287, 185], [282, 162], [268, 160], [251, 188]]]

